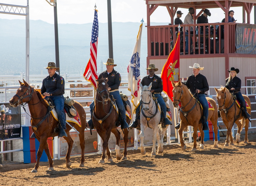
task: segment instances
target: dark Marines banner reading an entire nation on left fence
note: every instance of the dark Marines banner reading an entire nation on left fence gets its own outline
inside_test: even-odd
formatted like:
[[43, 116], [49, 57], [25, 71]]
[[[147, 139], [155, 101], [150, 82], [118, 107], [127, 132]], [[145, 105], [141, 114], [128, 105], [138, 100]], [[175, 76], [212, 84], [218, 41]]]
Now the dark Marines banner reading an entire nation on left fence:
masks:
[[11, 107], [8, 103], [0, 104], [0, 140], [20, 138], [20, 107]]

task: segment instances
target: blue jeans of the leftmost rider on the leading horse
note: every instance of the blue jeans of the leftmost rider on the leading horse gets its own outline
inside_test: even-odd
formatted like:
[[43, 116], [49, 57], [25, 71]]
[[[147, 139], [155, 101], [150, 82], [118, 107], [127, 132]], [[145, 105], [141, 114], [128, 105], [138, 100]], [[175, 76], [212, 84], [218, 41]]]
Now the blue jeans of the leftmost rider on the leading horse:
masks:
[[57, 114], [58, 114], [58, 118], [59, 118], [59, 121], [60, 121], [60, 124], [61, 126], [63, 127], [63, 129], [67, 129], [66, 128], [66, 119], [65, 119], [65, 114], [64, 114], [64, 96], [61, 95], [61, 96], [49, 96], [54, 105], [55, 105], [55, 109], [57, 111]]

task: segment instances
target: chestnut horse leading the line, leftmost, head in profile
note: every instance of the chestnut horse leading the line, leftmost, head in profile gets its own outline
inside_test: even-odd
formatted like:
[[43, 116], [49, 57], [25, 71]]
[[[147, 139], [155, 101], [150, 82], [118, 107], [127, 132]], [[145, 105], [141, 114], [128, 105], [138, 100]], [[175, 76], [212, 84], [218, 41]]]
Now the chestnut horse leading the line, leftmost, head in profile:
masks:
[[[10, 99], [9, 102], [10, 102], [10, 105], [13, 107], [24, 106], [23, 103], [28, 104], [28, 108], [29, 108], [31, 118], [32, 118], [32, 122], [31, 122], [32, 130], [36, 134], [36, 138], [40, 142], [39, 148], [37, 151], [36, 165], [31, 172], [37, 172], [37, 169], [39, 167], [39, 160], [40, 160], [43, 150], [45, 150], [46, 155], [49, 160], [48, 170], [54, 170], [54, 168], [52, 166], [53, 161], [52, 161], [52, 158], [50, 155], [47, 138], [58, 136], [58, 133], [55, 133], [54, 129], [57, 127], [59, 121], [54, 119], [52, 114], [49, 114], [49, 115], [47, 114], [47, 112], [48, 112], [47, 101], [44, 100], [44, 97], [42, 97], [41, 92], [39, 90], [36, 90], [33, 87], [31, 87], [26, 81], [23, 80], [23, 82], [24, 83], [19, 81], [20, 87], [18, 88], [16, 94], [12, 97], [12, 99]], [[75, 104], [73, 106], [76, 108], [77, 113], [80, 116], [81, 127], [72, 122], [70, 122], [70, 125], [73, 126], [77, 131], [80, 132], [79, 140], [80, 140], [80, 147], [81, 147], [82, 153], [81, 153], [81, 163], [79, 166], [84, 167], [84, 145], [85, 145], [84, 129], [86, 129], [86, 126], [88, 124], [86, 122], [86, 113], [85, 113], [82, 105], [79, 104], [78, 102], [75, 102]], [[43, 120], [43, 122], [41, 124], [39, 124], [39, 122], [42, 120], [42, 118], [44, 118], [46, 115], [48, 115], [48, 117], [45, 120]], [[37, 126], [38, 124], [39, 124], [39, 126]], [[37, 130], [34, 130], [33, 126], [37, 126]], [[69, 135], [70, 129], [71, 129], [71, 127], [69, 125], [67, 125], [66, 133], [67, 133], [68, 137], [64, 137], [64, 139], [68, 143], [68, 152], [66, 155], [66, 166], [67, 167], [71, 166], [71, 162], [69, 159], [70, 159], [70, 153], [71, 153], [71, 149], [72, 149], [72, 145], [73, 145], [73, 140], [71, 139], [71, 137]]]

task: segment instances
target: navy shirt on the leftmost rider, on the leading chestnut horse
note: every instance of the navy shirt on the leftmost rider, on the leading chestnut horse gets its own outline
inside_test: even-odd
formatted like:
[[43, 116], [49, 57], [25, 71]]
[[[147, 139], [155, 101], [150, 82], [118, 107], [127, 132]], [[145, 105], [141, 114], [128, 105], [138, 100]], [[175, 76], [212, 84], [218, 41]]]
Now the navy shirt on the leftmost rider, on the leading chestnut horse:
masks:
[[55, 72], [52, 77], [47, 76], [43, 79], [41, 94], [48, 92], [52, 96], [63, 95], [65, 93], [64, 85], [64, 78]]

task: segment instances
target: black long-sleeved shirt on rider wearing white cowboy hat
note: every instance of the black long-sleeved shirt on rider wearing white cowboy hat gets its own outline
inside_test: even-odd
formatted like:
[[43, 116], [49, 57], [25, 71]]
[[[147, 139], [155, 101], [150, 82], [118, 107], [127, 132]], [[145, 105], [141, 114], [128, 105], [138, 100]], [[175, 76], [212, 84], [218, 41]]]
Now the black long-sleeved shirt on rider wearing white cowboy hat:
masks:
[[199, 94], [204, 94], [206, 91], [209, 90], [209, 85], [205, 76], [201, 75], [200, 73], [195, 77], [194, 74], [188, 77], [187, 87], [190, 89], [192, 94], [196, 93], [196, 89], [200, 90]]

